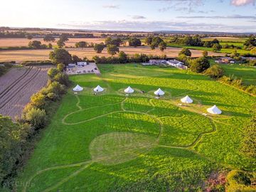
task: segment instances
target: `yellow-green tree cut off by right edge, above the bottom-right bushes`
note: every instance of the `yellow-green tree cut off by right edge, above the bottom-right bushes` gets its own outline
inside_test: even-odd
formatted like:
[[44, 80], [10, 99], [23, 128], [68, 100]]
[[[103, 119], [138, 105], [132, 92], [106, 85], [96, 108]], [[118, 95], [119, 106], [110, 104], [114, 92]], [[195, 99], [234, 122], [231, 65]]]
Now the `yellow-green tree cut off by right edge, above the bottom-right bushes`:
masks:
[[245, 156], [256, 158], [256, 105], [252, 108], [252, 119], [242, 134], [241, 150]]

